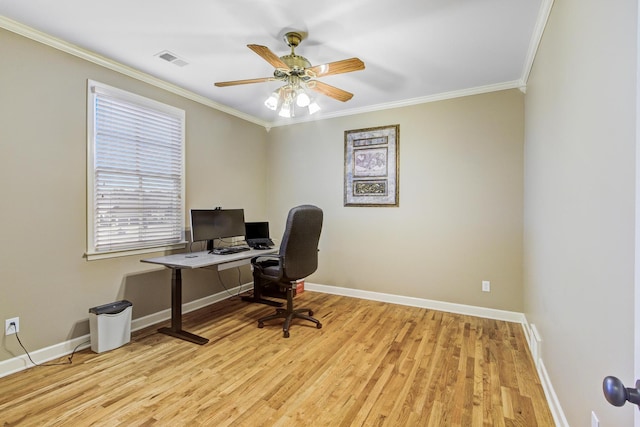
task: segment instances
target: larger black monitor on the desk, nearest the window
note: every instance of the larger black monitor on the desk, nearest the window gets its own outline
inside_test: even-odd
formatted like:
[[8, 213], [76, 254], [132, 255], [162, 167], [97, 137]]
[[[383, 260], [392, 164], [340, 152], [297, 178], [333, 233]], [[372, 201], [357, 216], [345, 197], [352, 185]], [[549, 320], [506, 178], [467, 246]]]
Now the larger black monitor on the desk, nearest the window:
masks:
[[244, 236], [243, 209], [191, 209], [191, 241]]

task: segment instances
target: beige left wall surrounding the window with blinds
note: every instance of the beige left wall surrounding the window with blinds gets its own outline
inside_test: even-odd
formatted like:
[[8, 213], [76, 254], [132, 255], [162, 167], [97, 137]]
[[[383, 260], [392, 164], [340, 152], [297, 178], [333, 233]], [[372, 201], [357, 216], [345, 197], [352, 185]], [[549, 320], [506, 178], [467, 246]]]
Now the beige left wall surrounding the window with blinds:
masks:
[[[168, 270], [140, 263], [161, 254], [83, 258], [87, 79], [186, 110], [187, 208], [266, 216], [264, 128], [1, 29], [0, 57], [0, 321], [19, 316], [29, 349], [87, 334], [96, 305], [127, 298], [134, 318], [169, 307]], [[246, 173], [220, 178], [239, 167]], [[238, 284], [234, 272], [222, 278]], [[223, 290], [211, 271], [187, 272], [185, 280], [185, 302]], [[243, 270], [243, 282], [250, 280]], [[13, 337], [1, 339], [0, 360], [22, 354]]]

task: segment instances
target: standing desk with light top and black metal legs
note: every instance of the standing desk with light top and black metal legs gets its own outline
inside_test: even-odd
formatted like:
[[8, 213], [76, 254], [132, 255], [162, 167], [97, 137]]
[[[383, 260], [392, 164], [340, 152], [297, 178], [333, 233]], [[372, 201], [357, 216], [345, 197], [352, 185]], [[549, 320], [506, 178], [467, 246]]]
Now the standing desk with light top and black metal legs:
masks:
[[207, 338], [182, 329], [182, 270], [216, 266], [218, 270], [240, 267], [251, 263], [251, 258], [259, 255], [277, 253], [277, 249], [238, 252], [228, 255], [214, 255], [207, 251], [147, 258], [141, 262], [164, 265], [171, 269], [171, 326], [160, 328], [158, 332], [171, 335], [196, 344], [206, 344]]

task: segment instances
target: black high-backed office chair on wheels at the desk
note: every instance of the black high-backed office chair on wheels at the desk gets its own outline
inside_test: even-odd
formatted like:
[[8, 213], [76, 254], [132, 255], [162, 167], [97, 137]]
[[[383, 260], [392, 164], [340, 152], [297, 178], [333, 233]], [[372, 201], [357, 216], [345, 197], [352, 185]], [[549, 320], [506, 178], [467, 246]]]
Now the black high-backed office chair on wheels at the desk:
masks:
[[[303, 279], [318, 268], [318, 241], [322, 230], [322, 210], [312, 205], [292, 208], [277, 255], [260, 255], [251, 260], [254, 283], [279, 286], [286, 292], [286, 308], [278, 308], [275, 314], [258, 319], [258, 327], [271, 319], [285, 319], [282, 331], [289, 338], [289, 325], [293, 319], [306, 319], [322, 328], [322, 324], [308, 308], [293, 308], [295, 281]], [[259, 281], [259, 282], [256, 282]], [[304, 314], [304, 313], [308, 313]]]

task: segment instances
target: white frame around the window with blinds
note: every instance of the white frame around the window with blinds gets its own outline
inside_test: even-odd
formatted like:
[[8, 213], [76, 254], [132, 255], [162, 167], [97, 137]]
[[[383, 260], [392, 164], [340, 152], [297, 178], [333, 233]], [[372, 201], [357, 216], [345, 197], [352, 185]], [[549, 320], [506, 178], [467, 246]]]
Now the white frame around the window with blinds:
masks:
[[[180, 121], [180, 207], [176, 224], [180, 228], [180, 237], [175, 242], [164, 243], [144, 243], [130, 248], [119, 249], [98, 249], [95, 241], [96, 230], [96, 193], [95, 193], [95, 169], [96, 169], [96, 98], [98, 93], [115, 98], [121, 102], [133, 104], [145, 109], [151, 109], [163, 114], [174, 116]], [[184, 110], [171, 105], [155, 101], [113, 86], [106, 85], [94, 80], [87, 80], [87, 260], [113, 258], [158, 252], [184, 248], [187, 244], [185, 240], [184, 218], [185, 218], [185, 128], [186, 113]], [[177, 223], [179, 222], [179, 224]]]

